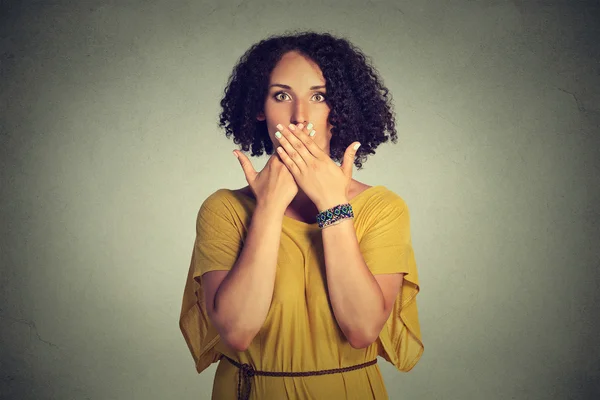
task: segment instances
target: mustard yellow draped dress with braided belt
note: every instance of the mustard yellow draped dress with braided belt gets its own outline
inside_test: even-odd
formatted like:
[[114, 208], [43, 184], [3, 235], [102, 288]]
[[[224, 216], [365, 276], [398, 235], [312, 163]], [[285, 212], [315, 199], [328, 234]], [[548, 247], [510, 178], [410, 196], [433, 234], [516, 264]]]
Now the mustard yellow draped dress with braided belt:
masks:
[[[284, 216], [271, 308], [245, 352], [228, 348], [211, 324], [202, 274], [230, 270], [248, 232], [255, 200], [220, 189], [200, 207], [196, 240], [185, 284], [179, 325], [198, 373], [219, 361], [213, 399], [236, 399], [239, 369], [223, 355], [255, 370], [301, 372], [343, 368], [383, 357], [400, 371], [412, 369], [423, 352], [417, 313], [417, 268], [408, 208], [385, 186], [372, 186], [350, 200], [363, 258], [373, 274], [404, 273], [392, 314], [379, 338], [353, 348], [340, 330], [327, 296], [321, 231]], [[248, 299], [252, 301], [252, 299]], [[308, 377], [254, 376], [250, 399], [387, 399], [378, 364], [350, 372]]]

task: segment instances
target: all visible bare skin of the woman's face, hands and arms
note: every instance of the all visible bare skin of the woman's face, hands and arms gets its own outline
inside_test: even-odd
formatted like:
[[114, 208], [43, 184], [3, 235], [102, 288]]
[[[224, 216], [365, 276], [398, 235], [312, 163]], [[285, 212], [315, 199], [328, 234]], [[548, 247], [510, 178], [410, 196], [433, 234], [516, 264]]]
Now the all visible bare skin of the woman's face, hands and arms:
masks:
[[[257, 119], [266, 121], [278, 151], [260, 172], [234, 151], [249, 184], [240, 191], [254, 197], [257, 206], [233, 268], [202, 277], [209, 318], [237, 351], [248, 348], [269, 311], [283, 215], [313, 223], [319, 211], [347, 203], [369, 187], [352, 179], [358, 142], [348, 146], [341, 166], [329, 156], [329, 106], [319, 67], [299, 53], [286, 53], [269, 85]], [[322, 238], [335, 319], [352, 347], [365, 348], [389, 318], [404, 275], [369, 271], [350, 219], [323, 229]]]

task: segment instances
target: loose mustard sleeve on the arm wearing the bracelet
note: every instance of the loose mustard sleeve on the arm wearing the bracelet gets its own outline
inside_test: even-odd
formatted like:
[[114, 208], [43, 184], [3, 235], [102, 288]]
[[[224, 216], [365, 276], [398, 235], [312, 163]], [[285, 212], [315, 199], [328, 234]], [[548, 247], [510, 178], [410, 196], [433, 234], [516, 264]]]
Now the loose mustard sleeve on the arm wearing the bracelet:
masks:
[[360, 241], [360, 249], [374, 275], [405, 274], [394, 308], [379, 334], [379, 355], [398, 370], [410, 371], [424, 350], [416, 298], [420, 290], [419, 277], [408, 207], [401, 197], [390, 194], [370, 205], [371, 222]]

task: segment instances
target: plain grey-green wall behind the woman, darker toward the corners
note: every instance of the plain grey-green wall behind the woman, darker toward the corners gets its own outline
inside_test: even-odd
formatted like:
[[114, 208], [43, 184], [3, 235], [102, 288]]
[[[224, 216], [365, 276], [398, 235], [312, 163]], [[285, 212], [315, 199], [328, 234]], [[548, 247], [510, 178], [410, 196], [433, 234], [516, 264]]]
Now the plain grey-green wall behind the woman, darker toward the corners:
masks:
[[177, 319], [200, 204], [246, 184], [218, 102], [286, 29], [346, 36], [395, 99], [355, 172], [411, 210], [425, 353], [381, 363], [390, 397], [600, 396], [597, 2], [0, 11], [1, 398], [210, 398]]

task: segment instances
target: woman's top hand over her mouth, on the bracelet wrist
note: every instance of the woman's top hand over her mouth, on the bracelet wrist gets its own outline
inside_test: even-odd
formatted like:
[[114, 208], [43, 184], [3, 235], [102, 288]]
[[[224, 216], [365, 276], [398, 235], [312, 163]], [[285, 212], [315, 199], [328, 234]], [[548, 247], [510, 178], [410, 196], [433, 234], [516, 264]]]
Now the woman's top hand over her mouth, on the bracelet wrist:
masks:
[[309, 131], [302, 124], [289, 127], [280, 124], [277, 129], [282, 134], [277, 138], [281, 144], [277, 148], [281, 161], [319, 211], [348, 203], [352, 166], [360, 143], [348, 146], [342, 165], [338, 166], [309, 136], [312, 129]]

